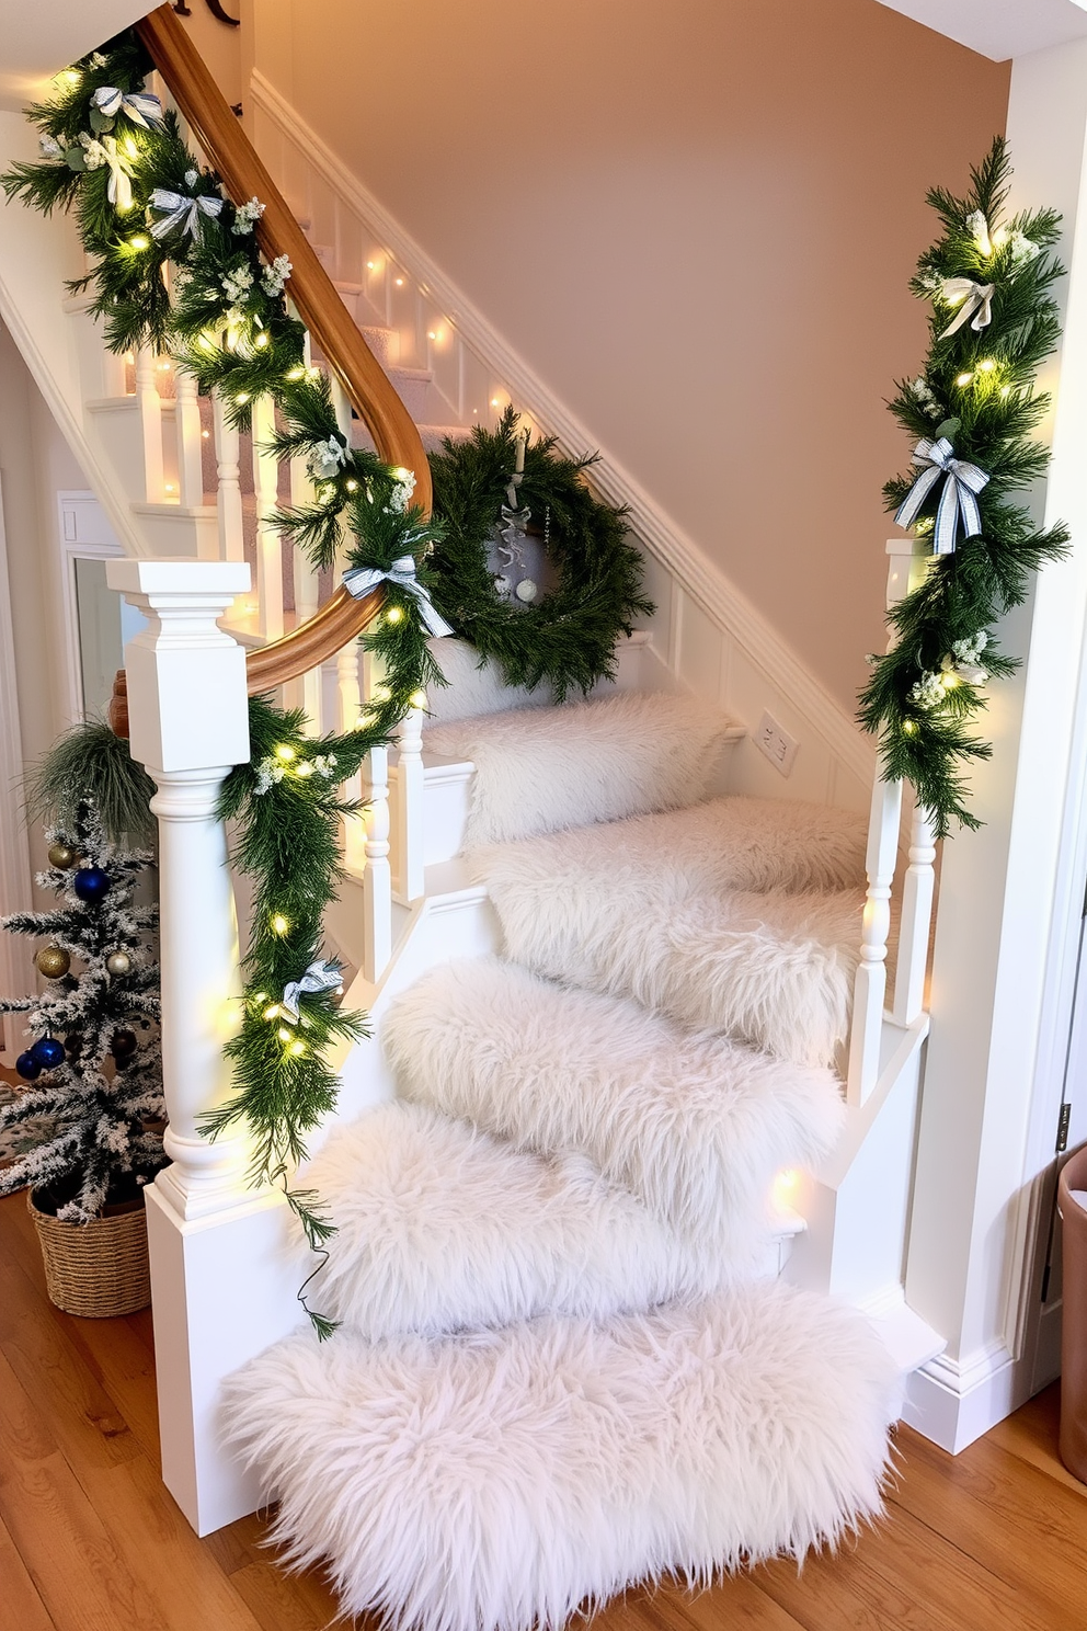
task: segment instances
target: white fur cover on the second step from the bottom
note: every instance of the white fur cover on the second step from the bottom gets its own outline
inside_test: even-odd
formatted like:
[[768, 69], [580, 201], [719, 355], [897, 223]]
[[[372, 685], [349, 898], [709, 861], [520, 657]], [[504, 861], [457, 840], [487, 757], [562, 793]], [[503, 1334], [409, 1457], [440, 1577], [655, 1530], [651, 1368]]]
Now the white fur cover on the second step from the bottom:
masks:
[[[530, 1155], [419, 1104], [337, 1129], [305, 1184], [339, 1231], [313, 1282], [321, 1311], [372, 1341], [546, 1311], [600, 1319], [751, 1272], [680, 1240], [583, 1155]], [[748, 1228], [763, 1267], [768, 1246], [763, 1210]]]

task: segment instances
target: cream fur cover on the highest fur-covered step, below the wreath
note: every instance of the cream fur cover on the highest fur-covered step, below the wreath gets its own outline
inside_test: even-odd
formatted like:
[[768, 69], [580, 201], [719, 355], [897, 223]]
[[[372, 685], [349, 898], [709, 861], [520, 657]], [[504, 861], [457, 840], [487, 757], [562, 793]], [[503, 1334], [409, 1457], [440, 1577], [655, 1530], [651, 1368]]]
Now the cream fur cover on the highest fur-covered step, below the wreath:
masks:
[[433, 726], [429, 752], [476, 765], [466, 843], [691, 804], [732, 721], [689, 698], [619, 692]]

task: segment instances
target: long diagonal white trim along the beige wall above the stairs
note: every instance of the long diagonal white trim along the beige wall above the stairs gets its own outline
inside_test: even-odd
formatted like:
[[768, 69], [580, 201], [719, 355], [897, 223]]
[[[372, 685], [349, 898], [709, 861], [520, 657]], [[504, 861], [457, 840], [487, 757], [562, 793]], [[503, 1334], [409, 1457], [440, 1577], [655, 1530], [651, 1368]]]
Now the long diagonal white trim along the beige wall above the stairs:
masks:
[[[345, 204], [385, 241], [389, 254], [445, 310], [473, 351], [502, 377], [515, 401], [557, 435], [574, 455], [596, 445], [596, 437], [583, 426], [528, 367], [523, 357], [499, 334], [477, 307], [427, 251], [389, 215], [385, 206], [336, 157], [321, 137], [297, 114], [259, 69], [253, 72], [251, 96], [275, 129], [300, 148], [313, 170]], [[834, 701], [821, 682], [782, 641], [766, 618], [714, 566], [698, 543], [683, 532], [645, 493], [624, 465], [605, 449], [593, 466], [593, 484], [613, 504], [624, 504], [631, 528], [649, 551], [665, 566], [691, 599], [706, 612], [748, 661], [787, 696], [802, 701], [803, 711], [823, 737], [826, 747], [862, 783], [870, 783], [875, 770], [875, 747]]]

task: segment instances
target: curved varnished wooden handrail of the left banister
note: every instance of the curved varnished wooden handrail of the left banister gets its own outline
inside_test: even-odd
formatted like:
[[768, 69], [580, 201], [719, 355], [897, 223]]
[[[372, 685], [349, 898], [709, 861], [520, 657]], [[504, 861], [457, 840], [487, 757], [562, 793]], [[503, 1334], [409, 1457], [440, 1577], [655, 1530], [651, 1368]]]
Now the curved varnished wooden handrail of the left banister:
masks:
[[[332, 281], [248, 135], [238, 126], [173, 7], [160, 5], [135, 26], [230, 197], [235, 204], [244, 204], [251, 197], [259, 197], [264, 204], [264, 215], [256, 228], [264, 254], [269, 261], [277, 254], [290, 259], [290, 297], [298, 316], [370, 429], [380, 457], [389, 465], [414, 470], [414, 501], [429, 514], [430, 466], [411, 414], [355, 328]], [[341, 587], [316, 617], [293, 633], [251, 651], [246, 659], [249, 695], [275, 690], [324, 662], [350, 639], [357, 639], [376, 617], [381, 599], [380, 592], [373, 592], [354, 600]]]

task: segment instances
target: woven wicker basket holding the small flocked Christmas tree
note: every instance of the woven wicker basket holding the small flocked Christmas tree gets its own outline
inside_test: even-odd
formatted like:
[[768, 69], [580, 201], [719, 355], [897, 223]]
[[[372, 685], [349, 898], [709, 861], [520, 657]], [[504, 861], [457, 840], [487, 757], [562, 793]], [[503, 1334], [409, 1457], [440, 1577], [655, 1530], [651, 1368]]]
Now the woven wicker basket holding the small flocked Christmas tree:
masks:
[[142, 1196], [90, 1223], [65, 1223], [39, 1212], [33, 1194], [26, 1196], [26, 1207], [41, 1241], [51, 1303], [85, 1319], [109, 1319], [147, 1308], [152, 1275]]

